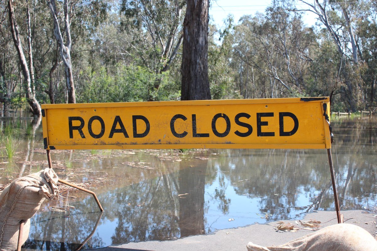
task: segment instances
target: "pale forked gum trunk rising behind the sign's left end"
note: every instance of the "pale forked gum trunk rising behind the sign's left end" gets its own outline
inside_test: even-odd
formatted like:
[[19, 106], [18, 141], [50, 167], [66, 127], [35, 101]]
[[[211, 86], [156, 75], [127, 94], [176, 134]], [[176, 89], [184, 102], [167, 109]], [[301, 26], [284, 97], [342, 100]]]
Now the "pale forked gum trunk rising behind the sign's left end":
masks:
[[64, 0], [64, 33], [67, 41], [64, 44], [63, 35], [60, 32], [58, 15], [56, 11], [55, 0], [47, 1], [47, 5], [51, 10], [52, 20], [54, 20], [54, 35], [59, 45], [60, 56], [64, 63], [64, 70], [66, 73], [66, 84], [68, 91], [68, 103], [76, 103], [75, 85], [73, 81], [72, 62], [70, 57], [70, 49], [72, 40], [70, 36], [70, 18], [69, 18], [69, 0]]

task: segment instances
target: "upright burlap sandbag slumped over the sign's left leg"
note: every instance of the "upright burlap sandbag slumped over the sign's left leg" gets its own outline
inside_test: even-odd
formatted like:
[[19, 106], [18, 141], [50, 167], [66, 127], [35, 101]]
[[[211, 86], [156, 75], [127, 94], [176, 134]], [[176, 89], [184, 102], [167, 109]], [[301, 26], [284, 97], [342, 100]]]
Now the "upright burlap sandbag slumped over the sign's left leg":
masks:
[[28, 239], [30, 218], [38, 211], [45, 198], [57, 199], [58, 176], [46, 168], [40, 172], [18, 178], [0, 194], [0, 250], [17, 249], [20, 222], [25, 223], [22, 243]]

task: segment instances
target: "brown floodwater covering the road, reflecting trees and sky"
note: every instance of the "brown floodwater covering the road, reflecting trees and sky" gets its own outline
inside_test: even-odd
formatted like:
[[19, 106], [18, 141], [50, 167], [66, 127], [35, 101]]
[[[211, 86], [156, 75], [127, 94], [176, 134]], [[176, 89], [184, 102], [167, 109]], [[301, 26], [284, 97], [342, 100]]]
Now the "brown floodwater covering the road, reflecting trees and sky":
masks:
[[[340, 208], [376, 211], [377, 119], [332, 120]], [[2, 129], [20, 128], [21, 142], [12, 163], [1, 159], [0, 184], [48, 166], [38, 121], [0, 122]], [[86, 184], [104, 212], [87, 193], [63, 192], [31, 219], [23, 250], [171, 240], [335, 210], [324, 149], [55, 150], [51, 156], [58, 176]]]

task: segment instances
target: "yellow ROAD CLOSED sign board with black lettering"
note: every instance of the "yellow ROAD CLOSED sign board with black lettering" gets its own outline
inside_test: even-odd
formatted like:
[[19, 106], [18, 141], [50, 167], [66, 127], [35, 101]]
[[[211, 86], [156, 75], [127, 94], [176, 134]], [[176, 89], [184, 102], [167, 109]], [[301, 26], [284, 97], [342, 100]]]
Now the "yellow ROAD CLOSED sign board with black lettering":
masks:
[[42, 105], [45, 149], [331, 148], [329, 97]]

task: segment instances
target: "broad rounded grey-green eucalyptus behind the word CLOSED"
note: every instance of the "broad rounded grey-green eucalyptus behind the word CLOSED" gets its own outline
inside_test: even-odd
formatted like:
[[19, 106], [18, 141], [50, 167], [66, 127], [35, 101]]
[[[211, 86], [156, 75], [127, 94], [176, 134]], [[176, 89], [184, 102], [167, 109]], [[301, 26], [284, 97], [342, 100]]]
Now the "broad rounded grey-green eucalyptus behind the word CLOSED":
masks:
[[252, 86], [244, 88], [252, 97], [302, 95], [315, 41], [313, 30], [303, 25], [300, 15], [280, 6], [268, 8], [265, 15], [242, 17], [234, 28], [233, 65], [238, 68], [238, 81], [251, 80]]

